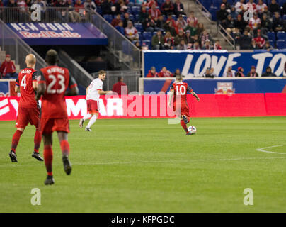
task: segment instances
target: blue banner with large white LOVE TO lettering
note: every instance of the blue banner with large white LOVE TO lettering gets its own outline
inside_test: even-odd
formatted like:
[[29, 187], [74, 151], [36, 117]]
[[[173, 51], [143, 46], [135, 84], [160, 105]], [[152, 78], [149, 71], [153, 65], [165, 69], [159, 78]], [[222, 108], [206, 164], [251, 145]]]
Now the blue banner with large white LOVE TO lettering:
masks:
[[286, 62], [286, 51], [273, 50], [271, 52], [227, 52], [227, 51], [205, 51], [205, 50], [144, 50], [144, 76], [152, 66], [159, 72], [162, 67], [167, 67], [171, 72], [180, 69], [185, 77], [201, 77], [207, 67], [214, 68], [214, 74], [222, 77], [228, 67], [237, 71], [239, 67], [244, 68], [247, 74], [251, 66], [256, 67], [259, 75], [270, 66], [277, 76], [286, 76], [284, 71]]

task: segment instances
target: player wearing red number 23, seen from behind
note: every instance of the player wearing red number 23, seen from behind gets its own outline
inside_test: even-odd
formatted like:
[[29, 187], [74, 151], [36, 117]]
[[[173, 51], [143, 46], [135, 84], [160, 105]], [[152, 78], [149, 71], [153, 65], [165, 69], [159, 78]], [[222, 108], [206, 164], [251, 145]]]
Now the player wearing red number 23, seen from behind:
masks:
[[[42, 113], [40, 116], [40, 131], [44, 141], [44, 159], [47, 169], [45, 184], [54, 184], [52, 177], [52, 132], [57, 131], [64, 171], [71, 173], [69, 162], [69, 119], [67, 116], [67, 104], [64, 96], [79, 94], [79, 89], [69, 70], [57, 66], [57, 51], [49, 50], [46, 55], [47, 67], [38, 72], [38, 91], [36, 99], [42, 96]], [[68, 89], [69, 88], [69, 89]]]

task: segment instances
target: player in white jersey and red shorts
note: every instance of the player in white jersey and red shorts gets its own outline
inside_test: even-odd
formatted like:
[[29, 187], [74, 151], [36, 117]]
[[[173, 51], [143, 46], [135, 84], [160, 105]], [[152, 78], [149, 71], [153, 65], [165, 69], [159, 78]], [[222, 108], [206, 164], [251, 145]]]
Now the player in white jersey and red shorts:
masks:
[[103, 80], [105, 80], [106, 72], [101, 70], [98, 72], [98, 78], [93, 79], [91, 84], [86, 88], [86, 105], [87, 105], [87, 114], [81, 120], [79, 120], [79, 127], [82, 128], [84, 121], [89, 120], [88, 125], [86, 126], [86, 131], [91, 131], [91, 126], [93, 123], [96, 123], [99, 112], [99, 96], [101, 94], [112, 94], [112, 91], [103, 91], [102, 85]]

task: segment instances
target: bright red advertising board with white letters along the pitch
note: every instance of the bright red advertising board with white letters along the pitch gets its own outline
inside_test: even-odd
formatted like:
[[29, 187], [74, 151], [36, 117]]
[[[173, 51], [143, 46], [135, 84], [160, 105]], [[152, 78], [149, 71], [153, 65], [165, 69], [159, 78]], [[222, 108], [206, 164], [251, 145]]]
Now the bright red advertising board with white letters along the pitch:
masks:
[[[0, 98], [0, 121], [16, 120], [19, 97]], [[101, 96], [100, 118], [173, 118], [168, 96]], [[200, 102], [188, 95], [191, 117], [286, 116], [286, 94], [200, 94]], [[86, 114], [85, 96], [67, 97], [70, 119]]]

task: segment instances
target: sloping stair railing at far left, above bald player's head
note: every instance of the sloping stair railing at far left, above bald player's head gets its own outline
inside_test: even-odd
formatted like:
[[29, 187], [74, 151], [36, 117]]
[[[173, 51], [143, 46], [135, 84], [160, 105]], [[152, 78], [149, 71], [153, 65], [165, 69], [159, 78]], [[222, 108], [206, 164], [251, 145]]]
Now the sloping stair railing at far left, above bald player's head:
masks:
[[18, 38], [18, 35], [14, 33], [11, 28], [6, 26], [4, 21], [0, 20], [0, 45], [1, 50], [6, 51], [7, 54], [11, 55], [11, 58], [15, 60], [16, 65], [20, 65], [20, 68], [23, 69], [25, 65], [25, 56], [28, 54], [35, 55], [37, 63], [35, 65], [36, 70], [39, 70], [42, 67], [45, 67], [45, 60], [38, 55], [35, 50], [30, 48], [21, 38]]

